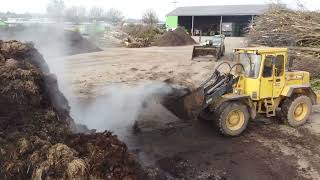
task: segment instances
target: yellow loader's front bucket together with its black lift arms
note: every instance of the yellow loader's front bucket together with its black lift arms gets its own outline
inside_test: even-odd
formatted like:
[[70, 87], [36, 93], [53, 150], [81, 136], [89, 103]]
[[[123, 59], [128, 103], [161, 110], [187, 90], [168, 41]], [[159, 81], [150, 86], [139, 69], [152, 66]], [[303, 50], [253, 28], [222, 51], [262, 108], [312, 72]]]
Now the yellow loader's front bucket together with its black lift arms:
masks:
[[164, 98], [162, 105], [182, 120], [195, 119], [210, 105], [213, 98], [229, 92], [237, 81], [238, 78], [233, 75], [225, 75], [215, 69], [197, 89], [171, 86], [172, 91]]

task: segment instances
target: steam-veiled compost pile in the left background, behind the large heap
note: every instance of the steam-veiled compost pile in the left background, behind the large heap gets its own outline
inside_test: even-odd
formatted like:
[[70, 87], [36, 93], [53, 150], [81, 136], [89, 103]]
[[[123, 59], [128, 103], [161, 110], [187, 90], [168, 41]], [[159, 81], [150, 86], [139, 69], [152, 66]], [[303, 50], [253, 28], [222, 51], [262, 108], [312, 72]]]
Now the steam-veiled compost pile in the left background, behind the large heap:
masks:
[[55, 26], [10, 27], [0, 30], [5, 40], [32, 41], [46, 57], [102, 51], [79, 32]]

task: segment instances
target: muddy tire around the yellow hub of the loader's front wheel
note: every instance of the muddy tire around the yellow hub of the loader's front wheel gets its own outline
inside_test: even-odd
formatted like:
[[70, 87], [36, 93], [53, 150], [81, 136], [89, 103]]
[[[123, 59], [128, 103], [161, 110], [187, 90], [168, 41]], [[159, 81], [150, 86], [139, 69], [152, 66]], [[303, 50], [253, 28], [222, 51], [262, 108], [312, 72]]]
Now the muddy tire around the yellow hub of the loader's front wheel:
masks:
[[[230, 113], [235, 111], [239, 111], [243, 113], [243, 123], [240, 123], [240, 127], [237, 129], [230, 129], [228, 127], [228, 117]], [[240, 135], [246, 128], [249, 122], [249, 112], [247, 107], [242, 103], [237, 102], [226, 102], [223, 103], [218, 110], [215, 111], [215, 124], [219, 129], [220, 133], [225, 136], [238, 136]]]

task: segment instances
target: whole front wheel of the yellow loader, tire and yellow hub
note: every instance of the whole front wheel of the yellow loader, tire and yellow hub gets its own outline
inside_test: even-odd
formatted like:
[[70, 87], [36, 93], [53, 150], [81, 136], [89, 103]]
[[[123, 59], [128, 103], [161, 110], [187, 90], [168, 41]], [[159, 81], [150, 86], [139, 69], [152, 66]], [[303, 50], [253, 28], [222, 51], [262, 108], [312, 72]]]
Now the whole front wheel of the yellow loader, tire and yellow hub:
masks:
[[240, 135], [247, 128], [249, 122], [248, 109], [241, 103], [223, 103], [215, 115], [219, 131], [226, 136]]

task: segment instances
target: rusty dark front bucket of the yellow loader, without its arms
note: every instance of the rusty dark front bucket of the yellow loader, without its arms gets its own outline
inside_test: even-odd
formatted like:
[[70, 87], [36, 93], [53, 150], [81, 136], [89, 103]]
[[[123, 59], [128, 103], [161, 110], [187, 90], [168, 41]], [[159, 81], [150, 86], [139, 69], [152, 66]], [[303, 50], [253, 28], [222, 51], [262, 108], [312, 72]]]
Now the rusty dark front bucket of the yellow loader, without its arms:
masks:
[[162, 101], [162, 105], [181, 120], [195, 119], [203, 105], [203, 90], [177, 88]]

